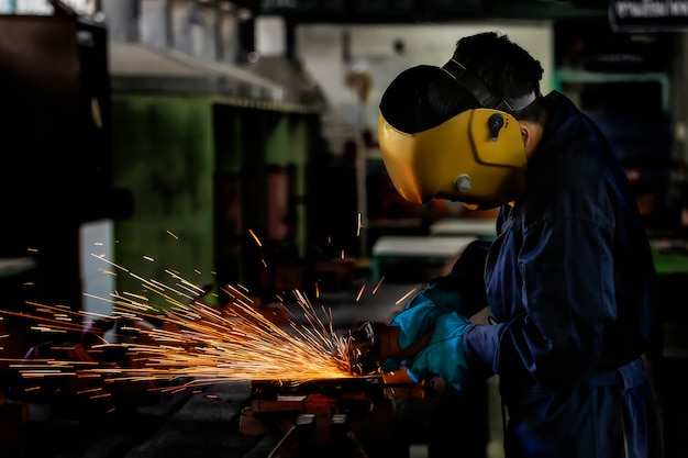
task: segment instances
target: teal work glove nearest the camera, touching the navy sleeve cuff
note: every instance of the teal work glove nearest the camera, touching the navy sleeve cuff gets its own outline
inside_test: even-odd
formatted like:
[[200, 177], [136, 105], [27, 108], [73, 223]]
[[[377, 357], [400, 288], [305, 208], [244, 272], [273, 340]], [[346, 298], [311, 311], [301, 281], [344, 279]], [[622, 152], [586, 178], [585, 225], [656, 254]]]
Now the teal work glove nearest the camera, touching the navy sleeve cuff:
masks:
[[462, 338], [470, 326], [468, 319], [458, 313], [440, 315], [428, 345], [410, 365], [404, 361], [409, 377], [415, 382], [441, 377], [456, 390], [465, 387], [470, 375]]

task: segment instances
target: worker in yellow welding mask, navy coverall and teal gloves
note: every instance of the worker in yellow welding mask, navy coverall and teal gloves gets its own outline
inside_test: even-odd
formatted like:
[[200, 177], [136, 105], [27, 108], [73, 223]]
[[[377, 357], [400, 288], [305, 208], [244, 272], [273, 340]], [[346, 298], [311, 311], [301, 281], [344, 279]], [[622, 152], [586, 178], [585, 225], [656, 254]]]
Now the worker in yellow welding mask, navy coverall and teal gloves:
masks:
[[498, 375], [507, 458], [658, 458], [643, 358], [655, 314], [648, 239], [603, 134], [563, 93], [541, 93], [543, 71], [490, 31], [384, 92], [378, 142], [399, 193], [499, 209], [479, 267], [490, 320], [470, 322], [470, 298], [452, 281], [429, 283], [389, 323], [400, 348], [430, 334], [398, 362], [458, 391]]

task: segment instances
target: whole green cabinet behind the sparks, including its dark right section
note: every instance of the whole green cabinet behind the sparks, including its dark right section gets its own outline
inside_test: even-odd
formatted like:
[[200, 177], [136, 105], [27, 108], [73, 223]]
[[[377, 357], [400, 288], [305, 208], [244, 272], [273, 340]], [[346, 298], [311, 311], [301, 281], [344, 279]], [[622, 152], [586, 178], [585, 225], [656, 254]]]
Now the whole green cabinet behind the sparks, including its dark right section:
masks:
[[302, 286], [317, 114], [204, 94], [115, 92], [112, 105], [114, 181], [134, 202], [114, 222], [114, 258], [136, 276], [119, 272], [118, 290], [170, 271], [256, 294]]

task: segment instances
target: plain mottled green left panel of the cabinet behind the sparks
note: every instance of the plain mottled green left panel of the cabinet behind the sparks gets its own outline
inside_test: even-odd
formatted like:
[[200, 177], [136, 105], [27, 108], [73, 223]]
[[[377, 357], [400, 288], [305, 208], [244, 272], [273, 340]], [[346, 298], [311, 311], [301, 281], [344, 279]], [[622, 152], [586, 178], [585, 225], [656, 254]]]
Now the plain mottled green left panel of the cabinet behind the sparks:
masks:
[[[164, 281], [175, 271], [198, 284], [211, 282], [210, 99], [115, 93], [112, 112], [114, 181], [134, 201], [131, 217], [114, 223], [116, 262], [144, 279]], [[120, 291], [138, 291], [140, 284], [125, 272], [118, 276]]]

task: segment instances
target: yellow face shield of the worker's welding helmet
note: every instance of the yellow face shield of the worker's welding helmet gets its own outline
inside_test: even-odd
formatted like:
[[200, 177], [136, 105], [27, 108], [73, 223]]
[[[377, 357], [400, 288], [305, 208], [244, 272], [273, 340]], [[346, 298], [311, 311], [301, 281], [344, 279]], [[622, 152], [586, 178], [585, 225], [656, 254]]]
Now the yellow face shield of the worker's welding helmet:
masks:
[[[408, 89], [408, 81], [403, 83]], [[390, 116], [406, 107], [399, 104], [404, 103], [400, 91], [393, 96], [388, 102], [396, 104], [393, 110], [385, 107]], [[395, 188], [408, 201], [447, 199], [487, 210], [523, 192], [528, 163], [521, 130], [511, 114], [475, 108], [431, 129], [409, 127], [412, 133], [407, 133], [392, 126], [385, 112], [378, 115], [380, 152]]]

